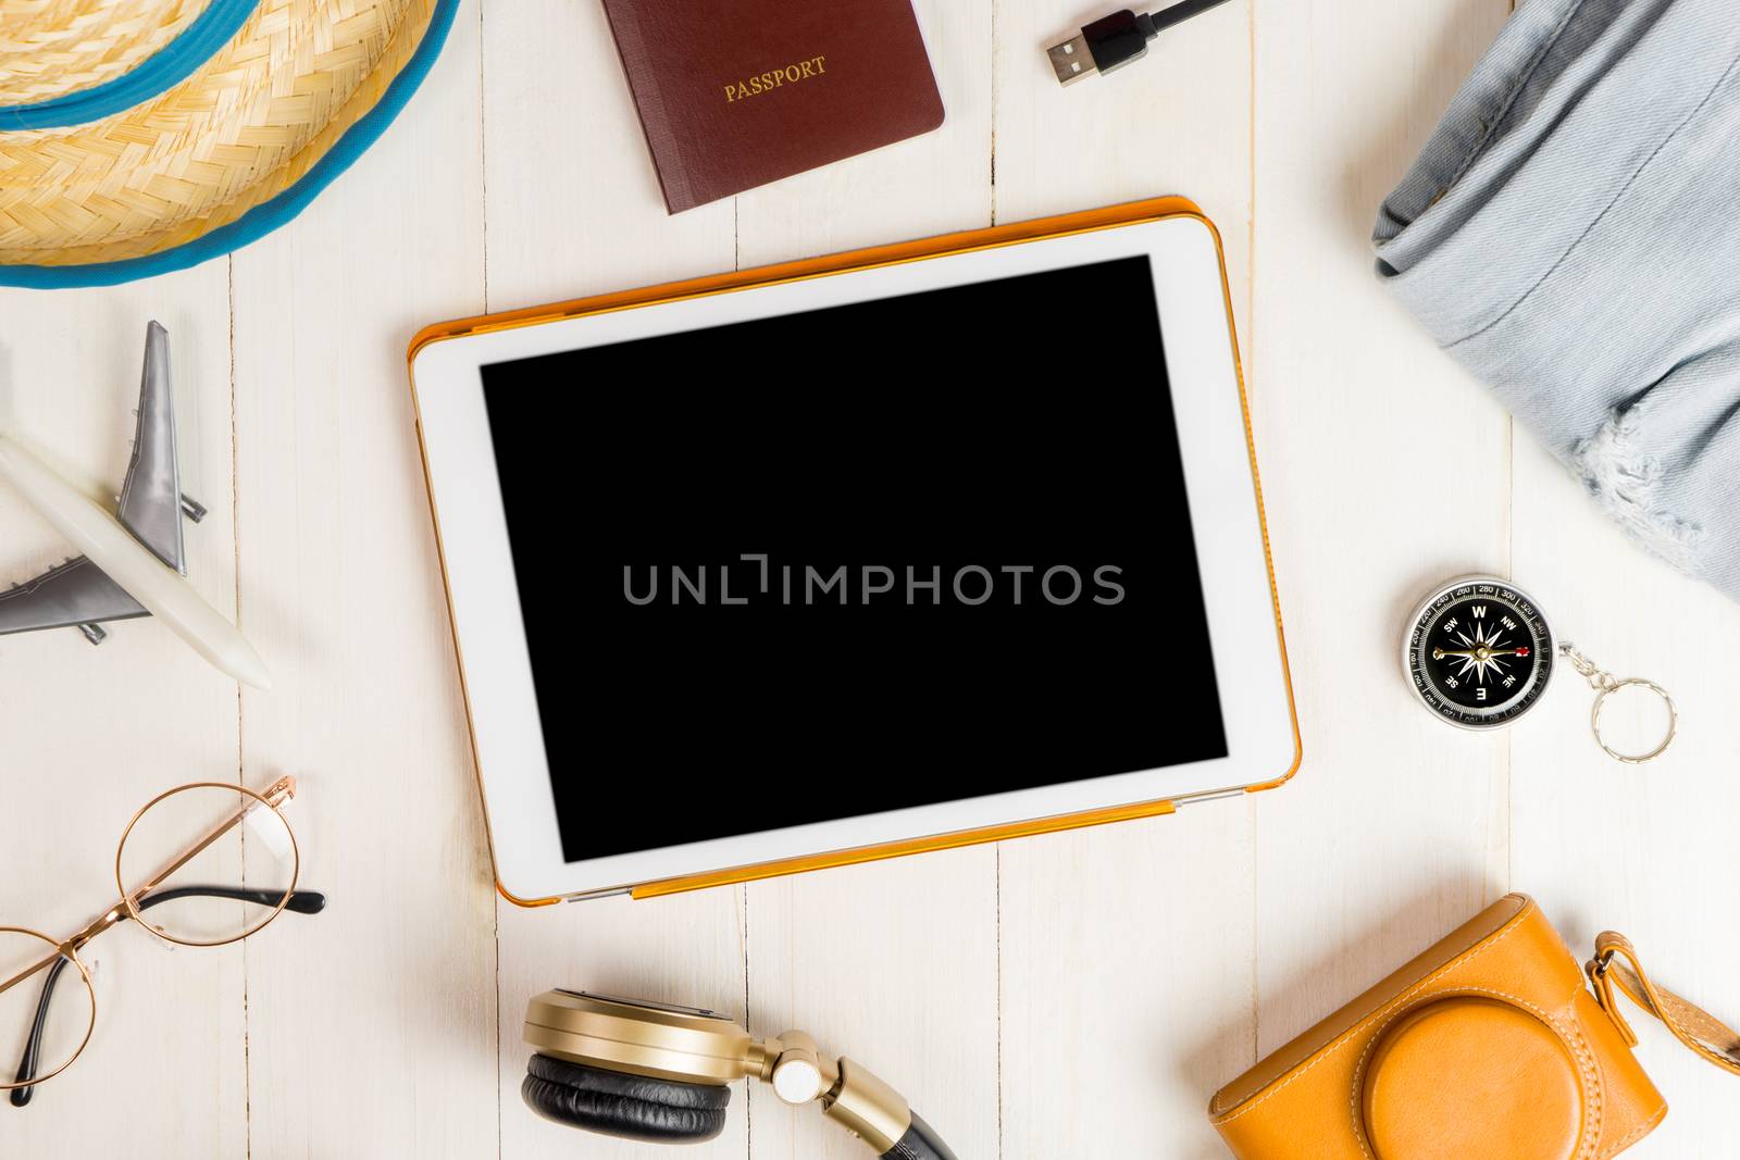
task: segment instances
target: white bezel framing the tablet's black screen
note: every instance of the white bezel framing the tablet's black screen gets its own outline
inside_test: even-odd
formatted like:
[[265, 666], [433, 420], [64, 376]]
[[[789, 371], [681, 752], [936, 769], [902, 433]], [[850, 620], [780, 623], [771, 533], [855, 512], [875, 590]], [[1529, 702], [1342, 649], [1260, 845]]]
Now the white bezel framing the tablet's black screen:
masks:
[[[543, 748], [480, 367], [675, 330], [799, 313], [948, 285], [1147, 254], [1208, 607], [1230, 753], [1223, 758], [860, 814], [729, 838], [567, 863]], [[1061, 341], [1063, 336], [1053, 336]], [[983, 341], [1046, 341], [988, 334]], [[746, 290], [485, 330], [414, 351], [430, 497], [472, 715], [496, 880], [515, 901], [628, 889], [733, 866], [919, 840], [1140, 802], [1255, 788], [1298, 762], [1220, 247], [1178, 216], [1032, 242], [773, 282]], [[583, 499], [572, 518], [581, 518]], [[552, 537], [566, 537], [560, 527]], [[562, 626], [548, 626], [562, 631]], [[576, 638], [576, 650], [579, 643]], [[576, 664], [585, 661], [576, 652]], [[1164, 727], [1166, 706], [1155, 706]], [[618, 776], [633, 776], [623, 770]], [[698, 776], [706, 776], [705, 772]], [[818, 770], [825, 783], [826, 770]], [[861, 793], [865, 788], [858, 786]], [[658, 807], [658, 802], [649, 802]], [[609, 819], [599, 819], [609, 824]]]

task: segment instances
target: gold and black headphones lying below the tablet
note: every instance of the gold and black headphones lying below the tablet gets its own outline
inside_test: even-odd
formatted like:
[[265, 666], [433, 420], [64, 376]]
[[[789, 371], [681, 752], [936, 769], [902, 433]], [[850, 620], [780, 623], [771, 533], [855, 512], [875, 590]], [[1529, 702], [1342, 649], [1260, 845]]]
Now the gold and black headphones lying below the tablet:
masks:
[[586, 991], [545, 991], [525, 1009], [534, 1054], [520, 1097], [555, 1123], [649, 1143], [694, 1144], [726, 1127], [727, 1083], [757, 1077], [788, 1104], [821, 1111], [884, 1160], [955, 1160], [905, 1097], [804, 1031], [757, 1040], [733, 1019]]

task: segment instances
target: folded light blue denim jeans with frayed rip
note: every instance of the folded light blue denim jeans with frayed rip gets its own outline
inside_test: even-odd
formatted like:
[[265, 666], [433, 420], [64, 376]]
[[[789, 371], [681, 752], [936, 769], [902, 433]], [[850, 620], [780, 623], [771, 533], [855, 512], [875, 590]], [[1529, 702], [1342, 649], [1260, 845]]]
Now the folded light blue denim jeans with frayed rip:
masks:
[[1373, 245], [1610, 515], [1740, 598], [1737, 0], [1524, 0]]

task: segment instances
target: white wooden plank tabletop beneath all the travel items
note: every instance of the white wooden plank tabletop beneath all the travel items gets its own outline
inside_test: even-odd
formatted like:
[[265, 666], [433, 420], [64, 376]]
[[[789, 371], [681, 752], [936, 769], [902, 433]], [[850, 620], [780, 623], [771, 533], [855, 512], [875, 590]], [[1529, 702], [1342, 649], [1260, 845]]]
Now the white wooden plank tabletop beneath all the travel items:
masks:
[[[593, 0], [466, 3], [425, 90], [287, 230], [197, 270], [0, 292], [0, 423], [92, 494], [125, 468], [146, 318], [174, 336], [191, 576], [277, 677], [237, 696], [164, 628], [0, 642], [0, 923], [77, 929], [111, 850], [190, 779], [303, 779], [318, 918], [92, 946], [89, 1052], [5, 1157], [652, 1157], [519, 1101], [548, 986], [814, 1031], [964, 1158], [1221, 1157], [1209, 1092], [1509, 889], [1740, 1009], [1740, 609], [1610, 529], [1385, 299], [1373, 212], [1509, 0], [1235, 0], [1058, 90], [1082, 0], [919, 0], [941, 130], [666, 217]], [[1232, 266], [1307, 762], [1176, 817], [717, 889], [519, 911], [491, 889], [404, 350], [482, 310], [1187, 193]], [[1011, 341], [988, 334], [985, 341]], [[823, 384], [825, 390], [825, 384]], [[1455, 456], [1456, 471], [1427, 470]], [[64, 553], [0, 494], [0, 567]], [[1566, 678], [1526, 723], [1444, 729], [1395, 638], [1434, 579], [1512, 574], [1677, 694], [1648, 769]], [[914, 953], [924, 948], [926, 953]], [[1643, 1026], [1639, 1023], [1639, 1026]], [[1733, 1080], [1644, 1030], [1674, 1113], [1637, 1157], [1731, 1157]], [[738, 1092], [694, 1157], [853, 1157]]]

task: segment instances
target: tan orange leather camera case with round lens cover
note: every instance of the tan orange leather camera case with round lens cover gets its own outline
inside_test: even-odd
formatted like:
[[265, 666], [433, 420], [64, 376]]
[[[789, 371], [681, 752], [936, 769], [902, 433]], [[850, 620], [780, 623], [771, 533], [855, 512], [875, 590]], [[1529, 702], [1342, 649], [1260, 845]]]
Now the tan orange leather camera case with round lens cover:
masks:
[[1512, 894], [1223, 1087], [1209, 1117], [1241, 1160], [1604, 1160], [1667, 1115], [1610, 1009]]

